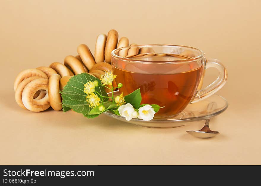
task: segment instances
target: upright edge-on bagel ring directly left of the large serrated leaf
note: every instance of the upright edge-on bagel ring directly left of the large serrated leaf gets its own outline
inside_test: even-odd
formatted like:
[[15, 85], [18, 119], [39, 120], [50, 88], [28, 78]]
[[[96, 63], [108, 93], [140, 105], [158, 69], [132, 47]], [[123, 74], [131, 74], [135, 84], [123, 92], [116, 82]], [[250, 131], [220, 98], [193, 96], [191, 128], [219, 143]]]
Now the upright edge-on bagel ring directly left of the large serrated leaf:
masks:
[[61, 110], [62, 109], [62, 100], [60, 92], [60, 79], [61, 76], [58, 74], [53, 74], [49, 78], [48, 85], [48, 96], [49, 102], [53, 110]]

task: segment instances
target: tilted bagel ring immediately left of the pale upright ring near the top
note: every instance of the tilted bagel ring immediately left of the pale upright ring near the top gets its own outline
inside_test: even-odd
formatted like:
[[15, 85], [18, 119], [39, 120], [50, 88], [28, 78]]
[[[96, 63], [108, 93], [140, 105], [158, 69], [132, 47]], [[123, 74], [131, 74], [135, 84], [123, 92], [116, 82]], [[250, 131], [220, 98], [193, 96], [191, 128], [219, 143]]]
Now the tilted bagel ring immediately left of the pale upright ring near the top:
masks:
[[93, 54], [91, 53], [89, 47], [86, 44], [80, 44], [77, 48], [77, 52], [82, 59], [82, 62], [90, 70], [93, 65], [96, 64]]

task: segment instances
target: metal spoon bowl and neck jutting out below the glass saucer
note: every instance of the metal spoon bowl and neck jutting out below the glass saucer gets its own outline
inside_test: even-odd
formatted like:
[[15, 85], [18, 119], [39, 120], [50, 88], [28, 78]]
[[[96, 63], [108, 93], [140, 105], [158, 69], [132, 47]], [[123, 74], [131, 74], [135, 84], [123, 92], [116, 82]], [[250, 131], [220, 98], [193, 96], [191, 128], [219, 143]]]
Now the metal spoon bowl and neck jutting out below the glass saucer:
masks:
[[191, 134], [192, 136], [200, 137], [200, 138], [209, 138], [209, 137], [216, 136], [217, 134], [219, 134], [219, 132], [212, 131], [209, 129], [209, 121], [210, 119], [206, 120], [205, 126], [202, 129], [196, 131], [190, 130], [187, 131], [187, 133]]

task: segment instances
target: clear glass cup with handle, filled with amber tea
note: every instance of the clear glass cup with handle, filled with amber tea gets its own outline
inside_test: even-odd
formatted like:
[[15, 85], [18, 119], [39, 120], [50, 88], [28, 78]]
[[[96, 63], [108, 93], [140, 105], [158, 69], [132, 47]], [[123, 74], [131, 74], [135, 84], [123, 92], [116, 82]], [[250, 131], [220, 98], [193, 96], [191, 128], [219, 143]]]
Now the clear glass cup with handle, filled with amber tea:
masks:
[[[218, 78], [200, 89], [203, 71], [217, 68]], [[227, 70], [216, 59], [206, 60], [199, 49], [178, 45], [137, 45], [112, 51], [112, 69], [120, 93], [141, 90], [141, 104], [164, 108], [155, 117], [173, 117], [193, 102], [203, 100], [224, 86]]]

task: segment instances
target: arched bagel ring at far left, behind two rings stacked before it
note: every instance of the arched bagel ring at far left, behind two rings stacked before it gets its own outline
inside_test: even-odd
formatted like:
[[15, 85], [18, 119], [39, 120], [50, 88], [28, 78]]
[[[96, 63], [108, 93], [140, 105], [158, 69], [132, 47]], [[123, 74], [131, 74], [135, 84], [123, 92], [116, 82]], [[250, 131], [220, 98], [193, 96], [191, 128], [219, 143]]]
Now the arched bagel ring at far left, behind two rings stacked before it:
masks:
[[15, 78], [15, 82], [14, 82], [14, 90], [16, 91], [17, 86], [21, 83], [21, 81], [23, 81], [26, 78], [32, 77], [32, 76], [39, 76], [41, 78], [46, 78], [48, 79], [48, 77], [46, 76], [46, 74], [44, 72], [42, 72], [41, 70], [38, 69], [27, 69], [27, 70], [23, 70], [22, 72], [20, 72], [16, 78]]

